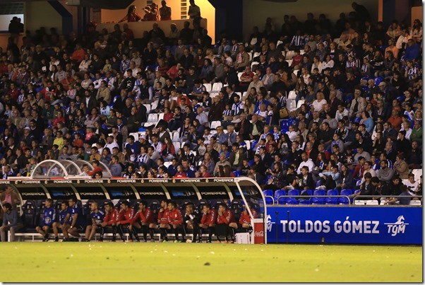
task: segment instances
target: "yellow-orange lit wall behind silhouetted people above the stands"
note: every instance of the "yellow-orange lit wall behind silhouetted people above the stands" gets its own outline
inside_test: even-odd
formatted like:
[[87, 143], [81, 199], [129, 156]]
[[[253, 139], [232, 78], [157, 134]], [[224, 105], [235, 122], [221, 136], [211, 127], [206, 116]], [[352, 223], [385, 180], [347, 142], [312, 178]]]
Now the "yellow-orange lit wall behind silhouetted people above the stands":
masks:
[[[225, 1], [225, 0], [223, 0]], [[251, 0], [249, 0], [251, 1]], [[145, 12], [143, 11], [143, 8], [146, 6], [147, 1], [146, 0], [136, 0], [133, 2], [132, 5], [136, 5], [137, 13], [143, 17], [145, 15]], [[155, 3], [157, 3], [159, 6], [161, 6], [160, 0], [155, 0]], [[200, 16], [203, 18], [208, 19], [207, 23], [207, 30], [208, 35], [213, 38], [213, 42], [215, 40], [215, 8], [213, 5], [210, 4], [208, 0], [198, 0], [195, 2], [196, 5], [200, 8]], [[188, 1], [187, 4], [189, 5]], [[167, 6], [172, 8], [172, 19], [174, 20], [180, 20], [180, 0], [169, 0], [167, 1]], [[109, 23], [109, 22], [118, 22], [121, 20], [121, 18], [124, 18], [126, 16], [128, 7], [124, 10], [107, 10], [102, 9], [101, 11], [101, 19], [102, 23]], [[172, 21], [170, 21], [172, 23]], [[168, 25], [169, 26], [169, 25]], [[167, 28], [169, 30], [169, 28]]]

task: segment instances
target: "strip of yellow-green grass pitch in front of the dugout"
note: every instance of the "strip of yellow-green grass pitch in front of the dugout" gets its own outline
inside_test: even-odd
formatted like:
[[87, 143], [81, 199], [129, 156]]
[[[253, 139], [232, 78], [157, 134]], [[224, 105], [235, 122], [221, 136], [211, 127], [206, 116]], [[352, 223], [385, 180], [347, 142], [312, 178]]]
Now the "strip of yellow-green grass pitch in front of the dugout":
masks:
[[421, 282], [422, 248], [378, 245], [1, 243], [7, 282]]

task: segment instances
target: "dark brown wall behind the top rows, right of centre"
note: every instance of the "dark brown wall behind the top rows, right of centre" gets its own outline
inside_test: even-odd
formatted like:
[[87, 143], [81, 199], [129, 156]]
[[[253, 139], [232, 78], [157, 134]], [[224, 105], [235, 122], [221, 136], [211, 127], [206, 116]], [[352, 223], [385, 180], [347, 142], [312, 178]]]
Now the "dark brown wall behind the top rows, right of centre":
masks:
[[[297, 2], [276, 3], [262, 0], [245, 0], [244, 1], [244, 38], [251, 34], [253, 26], [257, 25], [260, 31], [264, 30], [265, 19], [271, 17], [275, 24], [275, 29], [280, 30], [283, 24], [283, 16], [296, 16], [297, 19], [304, 23], [307, 19], [307, 13], [314, 14], [314, 18], [318, 19], [321, 13], [335, 24], [340, 13], [348, 13], [353, 11], [352, 0], [298, 0]], [[377, 0], [357, 0], [357, 4], [364, 5], [371, 13], [373, 18], [378, 16]]]

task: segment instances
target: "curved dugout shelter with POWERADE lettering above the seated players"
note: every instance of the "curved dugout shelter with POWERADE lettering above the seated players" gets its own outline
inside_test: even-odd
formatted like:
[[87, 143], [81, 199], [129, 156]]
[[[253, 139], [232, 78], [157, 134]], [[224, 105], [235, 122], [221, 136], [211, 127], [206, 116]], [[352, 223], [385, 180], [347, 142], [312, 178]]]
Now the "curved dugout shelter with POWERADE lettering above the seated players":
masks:
[[231, 207], [237, 219], [241, 214], [242, 205], [248, 205], [246, 208], [254, 228], [251, 241], [266, 242], [264, 218], [268, 214], [265, 198], [261, 188], [250, 178], [100, 180], [76, 179], [76, 176], [72, 179], [68, 178], [68, 171], [78, 171], [80, 166], [72, 161], [71, 163], [47, 161], [44, 164], [40, 163], [37, 167], [44, 173], [53, 173], [51, 178], [47, 178], [44, 174], [38, 176], [42, 179], [1, 180], [0, 184], [10, 184], [16, 190], [20, 197], [21, 214], [25, 214], [25, 207], [28, 204], [42, 205], [47, 198], [54, 199], [57, 203], [73, 196], [81, 201], [85, 209], [89, 209], [87, 206], [92, 201], [101, 202], [100, 204], [112, 201], [114, 204], [119, 204], [123, 199], [128, 200], [132, 206], [143, 199], [149, 205], [156, 205], [156, 207], [162, 199], [173, 199], [181, 210], [188, 202], [193, 202], [198, 209], [202, 209], [205, 203], [218, 207], [224, 202]]

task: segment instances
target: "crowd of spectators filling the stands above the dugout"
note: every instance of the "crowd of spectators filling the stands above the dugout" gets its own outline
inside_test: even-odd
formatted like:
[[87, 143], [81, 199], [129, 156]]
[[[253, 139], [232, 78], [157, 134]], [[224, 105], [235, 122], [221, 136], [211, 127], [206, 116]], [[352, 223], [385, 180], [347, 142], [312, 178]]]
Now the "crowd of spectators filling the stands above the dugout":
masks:
[[122, 178], [244, 175], [361, 195], [400, 194], [403, 180], [419, 195], [422, 24], [385, 27], [352, 6], [334, 25], [268, 18], [244, 43], [223, 33], [214, 44], [199, 18], [153, 22], [140, 39], [94, 23], [80, 37], [27, 32], [22, 47], [12, 36], [0, 50], [0, 178], [83, 159], [93, 178], [102, 162]]

